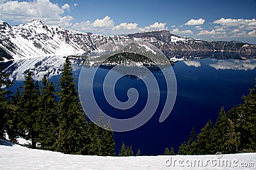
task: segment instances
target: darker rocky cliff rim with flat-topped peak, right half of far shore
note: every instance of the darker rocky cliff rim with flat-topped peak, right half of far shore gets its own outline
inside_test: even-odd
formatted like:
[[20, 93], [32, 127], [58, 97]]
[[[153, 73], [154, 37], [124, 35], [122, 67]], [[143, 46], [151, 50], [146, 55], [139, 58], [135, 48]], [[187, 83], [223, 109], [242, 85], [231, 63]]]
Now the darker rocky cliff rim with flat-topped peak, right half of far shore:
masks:
[[[145, 32], [129, 34], [131, 38], [148, 41], [157, 46], [168, 57], [174, 57], [173, 53], [224, 53], [237, 56], [255, 58], [256, 45], [249, 45], [237, 41], [201, 41], [193, 38], [180, 38], [169, 31]], [[228, 55], [227, 55], [228, 56]]]

